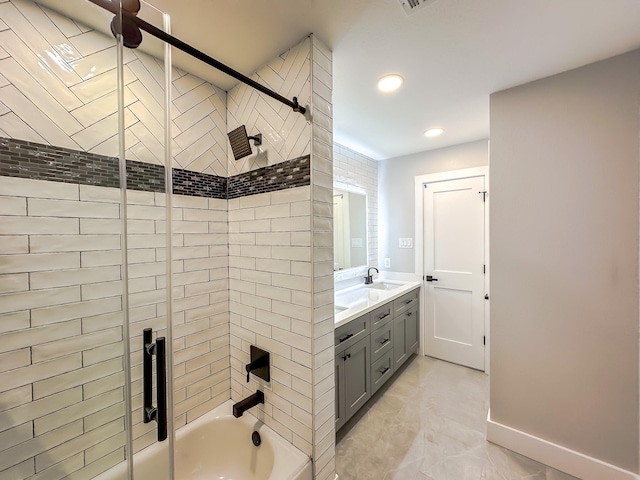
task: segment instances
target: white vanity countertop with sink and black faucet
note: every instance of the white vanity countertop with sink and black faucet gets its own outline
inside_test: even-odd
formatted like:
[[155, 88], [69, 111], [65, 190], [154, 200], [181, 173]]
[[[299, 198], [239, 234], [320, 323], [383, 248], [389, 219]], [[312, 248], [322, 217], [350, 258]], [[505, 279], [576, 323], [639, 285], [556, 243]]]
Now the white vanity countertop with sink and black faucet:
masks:
[[412, 281], [376, 280], [373, 282], [374, 285], [380, 283], [397, 284], [398, 286], [392, 290], [378, 290], [360, 284], [336, 291], [334, 294], [335, 306], [348, 308], [335, 314], [335, 328], [420, 287], [420, 282]]

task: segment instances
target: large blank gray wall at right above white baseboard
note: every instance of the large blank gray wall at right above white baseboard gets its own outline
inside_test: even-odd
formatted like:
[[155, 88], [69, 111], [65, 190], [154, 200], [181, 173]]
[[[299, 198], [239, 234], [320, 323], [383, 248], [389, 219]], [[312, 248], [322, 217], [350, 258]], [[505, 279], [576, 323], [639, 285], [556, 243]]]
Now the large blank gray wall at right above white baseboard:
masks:
[[640, 51], [491, 96], [491, 417], [638, 471]]

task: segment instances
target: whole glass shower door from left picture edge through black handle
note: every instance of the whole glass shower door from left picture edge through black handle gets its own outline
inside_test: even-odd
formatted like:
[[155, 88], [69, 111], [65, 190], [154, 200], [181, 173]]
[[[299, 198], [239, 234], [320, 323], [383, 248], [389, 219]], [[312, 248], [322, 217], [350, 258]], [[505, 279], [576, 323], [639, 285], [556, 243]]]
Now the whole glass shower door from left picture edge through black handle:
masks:
[[123, 48], [114, 4], [0, 2], [2, 479], [147, 478], [143, 351], [149, 411], [167, 406], [153, 478], [172, 478], [170, 55]]

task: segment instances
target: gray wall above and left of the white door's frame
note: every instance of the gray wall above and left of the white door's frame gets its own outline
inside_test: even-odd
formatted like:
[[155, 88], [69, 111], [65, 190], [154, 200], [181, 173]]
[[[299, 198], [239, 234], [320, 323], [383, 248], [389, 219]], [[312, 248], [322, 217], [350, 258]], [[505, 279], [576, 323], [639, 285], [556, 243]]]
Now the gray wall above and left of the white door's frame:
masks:
[[412, 238], [415, 246], [415, 177], [487, 165], [488, 147], [487, 140], [479, 140], [379, 162], [378, 266], [390, 258], [385, 270], [415, 272], [415, 249], [398, 247], [399, 238]]

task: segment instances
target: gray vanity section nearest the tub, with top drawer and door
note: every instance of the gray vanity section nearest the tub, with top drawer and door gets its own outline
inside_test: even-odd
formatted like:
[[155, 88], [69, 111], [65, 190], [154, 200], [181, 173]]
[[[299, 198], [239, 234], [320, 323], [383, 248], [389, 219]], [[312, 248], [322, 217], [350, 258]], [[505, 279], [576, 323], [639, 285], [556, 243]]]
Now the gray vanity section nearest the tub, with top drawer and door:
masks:
[[[368, 332], [369, 315], [363, 317], [366, 318], [355, 321], [366, 323]], [[356, 336], [354, 334], [348, 340], [343, 340], [341, 345], [339, 339], [349, 335], [345, 331], [352, 333], [351, 329], [336, 330], [336, 430], [371, 398], [371, 337], [367, 334], [353, 343], [351, 339]]]

